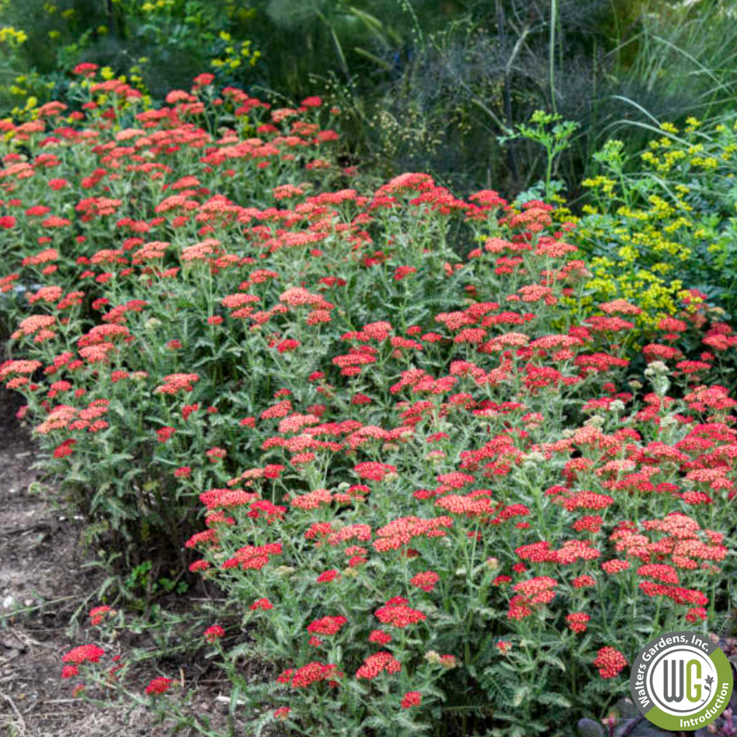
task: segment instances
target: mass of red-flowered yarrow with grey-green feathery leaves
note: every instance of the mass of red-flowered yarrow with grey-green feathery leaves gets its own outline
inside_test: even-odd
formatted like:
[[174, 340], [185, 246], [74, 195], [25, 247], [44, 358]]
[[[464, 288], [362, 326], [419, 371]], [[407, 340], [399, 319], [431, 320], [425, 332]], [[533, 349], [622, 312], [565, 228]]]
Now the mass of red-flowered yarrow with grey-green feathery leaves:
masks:
[[[254, 733], [570, 734], [643, 643], [720, 624], [730, 326], [663, 314], [632, 357], [642, 307], [576, 307], [591, 273], [548, 203], [347, 188], [316, 99], [99, 84], [4, 123], [0, 380], [102, 539], [219, 588], [201, 643]], [[63, 665], [218, 734], [184, 679], [136, 688], [99, 646]]]

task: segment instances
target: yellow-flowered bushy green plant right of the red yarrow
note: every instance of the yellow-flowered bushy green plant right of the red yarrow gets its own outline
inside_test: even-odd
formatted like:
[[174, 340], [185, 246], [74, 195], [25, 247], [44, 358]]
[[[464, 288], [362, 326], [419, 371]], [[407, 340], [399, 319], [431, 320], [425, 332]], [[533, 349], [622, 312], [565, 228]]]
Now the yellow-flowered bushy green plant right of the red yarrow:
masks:
[[682, 310], [686, 287], [730, 307], [737, 125], [704, 128], [663, 124], [635, 161], [618, 141], [597, 155], [603, 172], [582, 183], [590, 198], [576, 228], [593, 255], [589, 304], [637, 301], [642, 328]]

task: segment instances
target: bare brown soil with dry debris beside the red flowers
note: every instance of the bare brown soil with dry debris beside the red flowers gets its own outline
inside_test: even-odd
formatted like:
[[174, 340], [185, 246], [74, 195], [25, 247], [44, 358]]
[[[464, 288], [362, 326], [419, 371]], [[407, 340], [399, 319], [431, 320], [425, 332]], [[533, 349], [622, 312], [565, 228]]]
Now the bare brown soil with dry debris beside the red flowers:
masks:
[[[60, 680], [61, 654], [96, 641], [86, 613], [97, 604], [103, 574], [85, 567], [82, 525], [66, 517], [55, 489], [38, 478], [36, 449], [15, 418], [20, 399], [0, 389], [0, 737], [169, 735], [170, 727], [147, 711], [126, 716], [97, 708], [72, 698], [73, 683]], [[41, 492], [29, 493], [39, 481]], [[151, 667], [144, 679], [160, 674]], [[190, 681], [194, 671], [201, 682], [195, 708], [225, 721], [227, 683], [201, 664], [188, 671]]]

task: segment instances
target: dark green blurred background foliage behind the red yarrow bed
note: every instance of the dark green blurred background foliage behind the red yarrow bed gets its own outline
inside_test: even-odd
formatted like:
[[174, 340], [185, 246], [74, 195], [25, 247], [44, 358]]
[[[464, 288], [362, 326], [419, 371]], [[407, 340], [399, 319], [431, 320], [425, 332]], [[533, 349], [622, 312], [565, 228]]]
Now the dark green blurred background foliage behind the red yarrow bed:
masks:
[[736, 90], [737, 26], [724, 0], [0, 7], [0, 109], [15, 115], [28, 114], [29, 96], [40, 104], [66, 94], [66, 70], [83, 61], [125, 74], [155, 99], [203, 70], [223, 85], [291, 100], [322, 89], [346, 111], [349, 150], [380, 178], [422, 168], [466, 193], [495, 186], [514, 194], [540, 178], [534, 148], [497, 142], [537, 109], [580, 124], [559, 163], [576, 195], [607, 137], [626, 128], [632, 153], [646, 139], [641, 126], [708, 119], [730, 108]]

